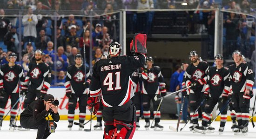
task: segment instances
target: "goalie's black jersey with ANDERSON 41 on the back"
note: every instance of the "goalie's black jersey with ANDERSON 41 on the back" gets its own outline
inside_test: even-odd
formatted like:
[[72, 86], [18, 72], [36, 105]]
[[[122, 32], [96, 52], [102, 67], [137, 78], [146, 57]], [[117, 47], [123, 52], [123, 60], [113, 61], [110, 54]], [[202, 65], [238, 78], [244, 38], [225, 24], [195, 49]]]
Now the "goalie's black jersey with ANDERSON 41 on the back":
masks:
[[144, 66], [145, 55], [121, 56], [101, 59], [94, 64], [90, 84], [90, 96], [101, 95], [105, 107], [117, 107], [134, 96], [130, 75]]

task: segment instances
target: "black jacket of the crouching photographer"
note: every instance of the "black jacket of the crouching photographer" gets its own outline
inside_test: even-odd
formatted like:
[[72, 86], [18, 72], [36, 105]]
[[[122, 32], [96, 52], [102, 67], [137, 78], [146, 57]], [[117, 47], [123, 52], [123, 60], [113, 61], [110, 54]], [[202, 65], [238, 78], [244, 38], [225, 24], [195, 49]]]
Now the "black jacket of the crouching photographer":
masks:
[[54, 114], [52, 110], [49, 110], [48, 112], [45, 109], [44, 101], [41, 99], [35, 100], [31, 102], [28, 107], [20, 114], [20, 117], [26, 116], [30, 117], [33, 116], [34, 120], [40, 121], [47, 117], [48, 114], [52, 115], [52, 118], [55, 122], [58, 122], [60, 120], [59, 113]]

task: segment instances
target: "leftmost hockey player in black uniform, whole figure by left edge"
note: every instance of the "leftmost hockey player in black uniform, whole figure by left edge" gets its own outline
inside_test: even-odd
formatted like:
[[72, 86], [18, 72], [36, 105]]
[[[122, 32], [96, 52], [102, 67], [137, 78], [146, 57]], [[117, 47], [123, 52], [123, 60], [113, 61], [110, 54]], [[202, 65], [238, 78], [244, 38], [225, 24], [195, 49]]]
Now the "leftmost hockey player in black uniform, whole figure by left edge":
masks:
[[[11, 98], [11, 107], [15, 104], [15, 102], [19, 99], [20, 86], [23, 89], [25, 76], [23, 73], [23, 69], [20, 65], [15, 64], [17, 59], [17, 55], [15, 53], [9, 54], [9, 63], [3, 64], [0, 67], [0, 129], [2, 126], [2, 120], [4, 116], [4, 108], [6, 107], [9, 96]], [[20, 82], [20, 85], [19, 85]], [[21, 95], [23, 91], [21, 91]], [[10, 129], [15, 127], [15, 117], [17, 114], [16, 104], [11, 110], [11, 118], [10, 118]]]

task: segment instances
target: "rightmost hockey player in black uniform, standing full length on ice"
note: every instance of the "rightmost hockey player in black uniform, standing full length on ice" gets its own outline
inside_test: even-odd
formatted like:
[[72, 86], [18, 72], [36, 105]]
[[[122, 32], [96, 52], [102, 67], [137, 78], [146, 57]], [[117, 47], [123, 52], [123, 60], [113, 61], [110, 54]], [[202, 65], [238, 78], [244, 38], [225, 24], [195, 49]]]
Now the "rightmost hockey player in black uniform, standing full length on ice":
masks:
[[[232, 104], [236, 111], [238, 126], [245, 126], [242, 129], [244, 135], [248, 132], [246, 122], [249, 120], [250, 98], [253, 93], [250, 91], [254, 84], [253, 71], [248, 63], [242, 62], [241, 51], [234, 51], [232, 58], [235, 64], [229, 66], [231, 76]], [[235, 135], [241, 133], [240, 129], [234, 131]]]

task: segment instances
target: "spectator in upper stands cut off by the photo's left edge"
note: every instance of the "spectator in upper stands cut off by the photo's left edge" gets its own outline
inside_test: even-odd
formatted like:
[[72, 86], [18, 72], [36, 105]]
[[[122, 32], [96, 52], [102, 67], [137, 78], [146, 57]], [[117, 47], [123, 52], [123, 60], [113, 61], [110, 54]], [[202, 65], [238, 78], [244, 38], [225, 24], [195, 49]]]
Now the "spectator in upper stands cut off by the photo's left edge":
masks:
[[0, 9], [0, 42], [4, 41], [4, 36], [6, 35], [8, 31], [8, 25], [10, 23], [10, 20], [5, 17], [5, 11], [4, 9]]

